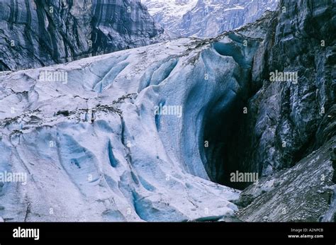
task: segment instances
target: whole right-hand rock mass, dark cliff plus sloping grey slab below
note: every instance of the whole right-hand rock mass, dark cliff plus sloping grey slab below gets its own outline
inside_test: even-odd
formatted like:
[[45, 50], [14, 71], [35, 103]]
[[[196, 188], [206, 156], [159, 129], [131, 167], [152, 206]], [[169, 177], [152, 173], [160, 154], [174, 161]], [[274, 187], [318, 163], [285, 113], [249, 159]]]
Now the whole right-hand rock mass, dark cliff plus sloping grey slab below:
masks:
[[[225, 155], [227, 171], [264, 176], [242, 192], [238, 203], [245, 208], [238, 216], [248, 222], [335, 221], [336, 4], [283, 0], [280, 6], [274, 31], [254, 57], [257, 93], [230, 138], [240, 147]], [[298, 79], [270, 81], [276, 70], [297, 72]]]

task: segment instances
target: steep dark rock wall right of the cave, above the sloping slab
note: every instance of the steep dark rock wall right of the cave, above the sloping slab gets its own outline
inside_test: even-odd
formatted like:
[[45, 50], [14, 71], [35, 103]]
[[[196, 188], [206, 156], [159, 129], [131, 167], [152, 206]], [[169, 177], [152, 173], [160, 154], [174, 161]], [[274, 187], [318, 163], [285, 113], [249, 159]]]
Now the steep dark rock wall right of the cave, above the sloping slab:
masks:
[[[252, 69], [247, 114], [230, 137], [227, 171], [293, 166], [335, 135], [335, 2], [281, 1]], [[283, 11], [282, 9], [285, 9]], [[295, 35], [294, 35], [295, 33]], [[270, 81], [293, 72], [297, 81]], [[235, 147], [240, 144], [240, 147]]]

